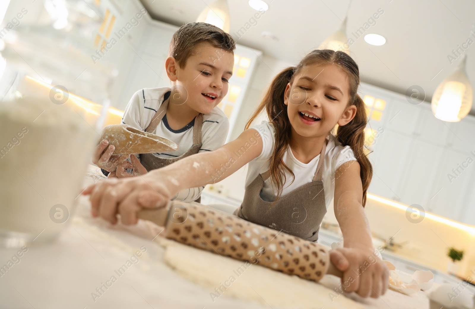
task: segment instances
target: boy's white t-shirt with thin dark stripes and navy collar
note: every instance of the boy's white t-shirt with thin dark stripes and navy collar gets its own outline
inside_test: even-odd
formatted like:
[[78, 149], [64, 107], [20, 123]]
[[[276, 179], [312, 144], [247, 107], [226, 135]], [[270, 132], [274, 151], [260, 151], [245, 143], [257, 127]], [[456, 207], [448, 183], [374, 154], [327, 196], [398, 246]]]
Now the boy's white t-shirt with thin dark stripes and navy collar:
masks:
[[[133, 126], [138, 130], [145, 131], [150, 125], [152, 117], [161, 106], [169, 87], [144, 88], [132, 96], [122, 118], [122, 123]], [[166, 97], [168, 97], [168, 94]], [[151, 133], [167, 138], [178, 145], [178, 150], [171, 152], [156, 153], [162, 158], [174, 158], [183, 155], [193, 145], [193, 119], [189, 124], [179, 130], [173, 130], [167, 121], [167, 115], [163, 116], [161, 122]], [[201, 127], [201, 149], [199, 152], [213, 151], [224, 145], [229, 131], [229, 120], [223, 111], [215, 106], [209, 114], [203, 115], [203, 125]], [[139, 157], [140, 159], [140, 157]], [[203, 191], [204, 186], [182, 190], [174, 198], [178, 201], [191, 202], [196, 200]]]

